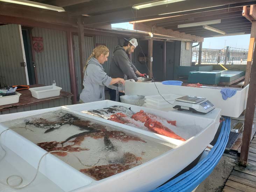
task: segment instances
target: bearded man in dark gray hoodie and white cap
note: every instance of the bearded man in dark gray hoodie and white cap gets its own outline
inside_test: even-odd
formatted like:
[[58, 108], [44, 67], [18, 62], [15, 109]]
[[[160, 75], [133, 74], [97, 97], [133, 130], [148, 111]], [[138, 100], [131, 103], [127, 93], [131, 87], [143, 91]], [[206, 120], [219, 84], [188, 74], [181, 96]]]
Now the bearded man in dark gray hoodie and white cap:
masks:
[[[137, 40], [133, 37], [125, 39], [123, 47], [117, 46], [115, 48], [112, 61], [110, 64], [110, 76], [112, 78], [122, 78], [122, 79], [134, 79], [138, 80], [136, 74], [140, 77], [147, 77], [145, 73], [140, 73], [136, 67], [131, 63], [131, 60], [128, 57], [128, 54], [134, 52], [134, 49], [137, 47]], [[112, 101], [119, 101], [120, 96], [125, 95], [118, 91], [118, 84], [108, 86], [110, 99]]]

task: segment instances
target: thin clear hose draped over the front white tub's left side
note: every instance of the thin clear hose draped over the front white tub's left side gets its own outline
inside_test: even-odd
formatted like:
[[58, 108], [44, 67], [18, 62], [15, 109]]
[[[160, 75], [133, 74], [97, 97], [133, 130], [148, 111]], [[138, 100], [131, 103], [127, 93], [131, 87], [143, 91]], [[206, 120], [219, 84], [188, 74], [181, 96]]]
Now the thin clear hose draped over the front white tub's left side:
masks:
[[[28, 128], [26, 128], [26, 127], [14, 127], [14, 128], [28, 129]], [[3, 130], [3, 131], [0, 133], [0, 138], [1, 138], [2, 133], [4, 133], [4, 132], [7, 131], [7, 130], [14, 129], [14, 128], [9, 128], [9, 129]], [[29, 129], [29, 130], [31, 130], [31, 129]], [[33, 131], [33, 130], [31, 130], [31, 131]], [[3, 149], [2, 145], [1, 145], [1, 142], [0, 142], [0, 146], [1, 146], [1, 148]], [[6, 156], [6, 150], [3, 149], [3, 151], [5, 151], [5, 155], [0, 159], [0, 161]], [[86, 164], [84, 164], [83, 162], [81, 162], [81, 160], [79, 159], [79, 157], [77, 157], [76, 155], [72, 154], [72, 153], [69, 152], [69, 151], [62, 151], [62, 150], [59, 150], [59, 151], [49, 151], [49, 152], [45, 153], [45, 154], [40, 158], [40, 160], [39, 160], [39, 162], [38, 162], [38, 164], [37, 164], [36, 174], [35, 174], [34, 178], [33, 178], [28, 184], [26, 184], [26, 185], [24, 185], [24, 186], [22, 186], [22, 187], [18, 187], [18, 186], [20, 186], [20, 185], [22, 184], [22, 182], [23, 182], [23, 178], [22, 178], [21, 176], [19, 176], [19, 175], [10, 175], [9, 177], [7, 177], [6, 183], [3, 183], [3, 182], [0, 181], [0, 184], [5, 185], [5, 186], [8, 186], [8, 187], [12, 187], [13, 189], [23, 189], [23, 188], [29, 186], [31, 183], [34, 182], [34, 180], [36, 179], [36, 177], [37, 177], [37, 175], [38, 175], [38, 172], [39, 172], [39, 168], [40, 168], [40, 164], [41, 164], [42, 159], [43, 159], [47, 154], [54, 153], [54, 152], [65, 152], [65, 153], [67, 153], [67, 154], [71, 154], [71, 155], [73, 155], [74, 157], [76, 157], [76, 158], [78, 159], [78, 161], [79, 161], [79, 163], [80, 163], [81, 165], [83, 165], [83, 166], [88, 166], [88, 167], [93, 167], [93, 166], [95, 166], [95, 165], [98, 164], [99, 161], [101, 160], [101, 158], [100, 158], [100, 159], [98, 160], [98, 162], [96, 162], [95, 164], [93, 164], [93, 165], [86, 165]], [[16, 185], [10, 185], [10, 184], [9, 184], [9, 179], [10, 179], [10, 178], [13, 178], [13, 177], [18, 177], [18, 178], [20, 178], [20, 179], [21, 179], [20, 183], [19, 183], [19, 184], [16, 184]]]

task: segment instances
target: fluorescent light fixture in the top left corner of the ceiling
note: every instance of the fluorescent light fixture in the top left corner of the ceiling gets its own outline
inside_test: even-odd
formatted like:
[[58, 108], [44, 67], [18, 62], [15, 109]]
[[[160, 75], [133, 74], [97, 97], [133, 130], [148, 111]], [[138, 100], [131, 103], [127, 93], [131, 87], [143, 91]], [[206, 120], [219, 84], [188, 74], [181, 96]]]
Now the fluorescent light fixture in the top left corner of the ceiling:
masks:
[[27, 5], [27, 6], [31, 6], [31, 7], [38, 7], [38, 8], [42, 8], [42, 9], [55, 10], [57, 12], [65, 11], [65, 9], [63, 9], [62, 7], [56, 7], [53, 5], [47, 5], [47, 4], [38, 3], [38, 2], [34, 2], [34, 1], [27, 1], [27, 0], [0, 0], [0, 1], [7, 2], [7, 3], [16, 3], [16, 4], [20, 4], [20, 5]]

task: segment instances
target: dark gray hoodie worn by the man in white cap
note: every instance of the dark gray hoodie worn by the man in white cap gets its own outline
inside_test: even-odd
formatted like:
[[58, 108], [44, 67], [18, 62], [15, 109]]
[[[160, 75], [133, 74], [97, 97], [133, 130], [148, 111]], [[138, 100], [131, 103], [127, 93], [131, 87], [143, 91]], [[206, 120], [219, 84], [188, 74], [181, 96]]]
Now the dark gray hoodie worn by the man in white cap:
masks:
[[[138, 80], [135, 72], [137, 71], [136, 67], [131, 63], [126, 50], [117, 46], [112, 57], [110, 65], [110, 76], [112, 78], [123, 78], [125, 80], [134, 79]], [[115, 84], [116, 85], [116, 84]]]

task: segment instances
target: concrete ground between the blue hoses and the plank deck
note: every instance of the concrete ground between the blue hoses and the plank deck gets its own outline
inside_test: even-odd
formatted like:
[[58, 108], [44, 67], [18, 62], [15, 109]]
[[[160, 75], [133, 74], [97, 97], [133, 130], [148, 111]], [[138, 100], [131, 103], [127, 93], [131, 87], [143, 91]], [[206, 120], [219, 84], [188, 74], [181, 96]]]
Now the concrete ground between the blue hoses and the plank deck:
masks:
[[237, 160], [223, 155], [211, 175], [209, 175], [195, 192], [221, 192]]

